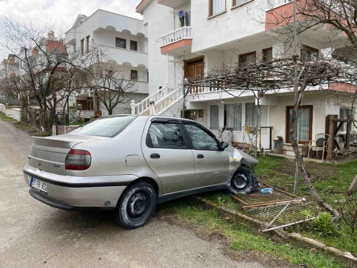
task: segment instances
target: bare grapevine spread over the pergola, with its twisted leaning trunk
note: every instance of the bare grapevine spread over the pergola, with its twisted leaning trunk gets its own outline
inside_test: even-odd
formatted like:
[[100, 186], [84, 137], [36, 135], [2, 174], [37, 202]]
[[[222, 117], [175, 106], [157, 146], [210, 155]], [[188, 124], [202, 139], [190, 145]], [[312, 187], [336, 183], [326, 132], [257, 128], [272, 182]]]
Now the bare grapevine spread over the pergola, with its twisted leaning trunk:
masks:
[[[298, 92], [295, 92], [294, 73], [298, 70]], [[353, 95], [348, 89], [345, 92], [339, 88], [335, 91], [328, 89], [327, 85], [354, 84], [357, 80], [355, 68], [346, 65], [331, 57], [317, 57], [308, 61], [301, 60], [296, 55], [284, 58], [274, 58], [268, 62], [260, 57], [256, 61], [245, 64], [230, 63], [220, 68], [209, 71], [204, 79], [191, 78], [183, 85], [187, 91], [193, 94], [193, 98], [201, 92], [223, 92], [233, 97], [239, 97], [246, 93], [254, 96], [259, 103], [260, 96], [273, 95], [279, 92], [295, 93], [297, 96], [293, 108], [289, 133], [294, 153], [297, 156], [298, 166], [304, 177], [305, 185], [312, 197], [325, 209], [331, 212], [337, 220], [339, 213], [331, 205], [327, 204], [317, 193], [311, 183], [311, 177], [306, 170], [304, 160], [298, 150], [298, 141], [295, 138], [296, 127], [294, 119], [298, 118], [298, 109], [301, 106], [306, 90], [315, 88], [321, 92], [329, 91], [331, 95], [345, 93], [346, 96]], [[347, 87], [349, 88], [349, 87]], [[191, 97], [192, 97], [191, 96]], [[259, 108], [259, 106], [258, 106]], [[257, 135], [257, 133], [256, 133]]]

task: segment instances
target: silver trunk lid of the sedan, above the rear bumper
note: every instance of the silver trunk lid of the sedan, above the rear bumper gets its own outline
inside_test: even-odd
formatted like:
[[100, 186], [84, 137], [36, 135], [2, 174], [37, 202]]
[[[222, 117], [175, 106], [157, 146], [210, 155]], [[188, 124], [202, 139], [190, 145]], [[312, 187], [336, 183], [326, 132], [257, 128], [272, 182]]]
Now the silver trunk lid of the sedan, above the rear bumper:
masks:
[[73, 146], [79, 143], [105, 139], [109, 139], [109, 137], [66, 134], [52, 137], [32, 137], [29, 166], [51, 173], [65, 175], [64, 162], [67, 153]]

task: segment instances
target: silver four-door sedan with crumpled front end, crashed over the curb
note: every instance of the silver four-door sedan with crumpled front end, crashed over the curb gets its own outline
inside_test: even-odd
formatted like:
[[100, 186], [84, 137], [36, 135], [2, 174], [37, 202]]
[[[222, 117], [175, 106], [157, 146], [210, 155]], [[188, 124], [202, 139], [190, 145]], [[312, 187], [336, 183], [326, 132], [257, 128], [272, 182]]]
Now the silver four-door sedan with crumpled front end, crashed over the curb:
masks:
[[134, 229], [164, 201], [251, 192], [257, 164], [195, 121], [111, 115], [67, 134], [32, 137], [24, 177], [38, 201], [64, 210], [113, 209], [121, 226]]

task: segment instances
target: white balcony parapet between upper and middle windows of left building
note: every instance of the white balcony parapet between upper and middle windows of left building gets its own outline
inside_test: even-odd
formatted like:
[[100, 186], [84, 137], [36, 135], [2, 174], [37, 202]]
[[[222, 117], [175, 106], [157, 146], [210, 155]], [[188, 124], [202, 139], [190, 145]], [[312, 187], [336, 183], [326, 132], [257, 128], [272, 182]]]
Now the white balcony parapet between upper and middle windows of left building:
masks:
[[114, 46], [99, 45], [111, 63], [147, 69], [148, 53]]

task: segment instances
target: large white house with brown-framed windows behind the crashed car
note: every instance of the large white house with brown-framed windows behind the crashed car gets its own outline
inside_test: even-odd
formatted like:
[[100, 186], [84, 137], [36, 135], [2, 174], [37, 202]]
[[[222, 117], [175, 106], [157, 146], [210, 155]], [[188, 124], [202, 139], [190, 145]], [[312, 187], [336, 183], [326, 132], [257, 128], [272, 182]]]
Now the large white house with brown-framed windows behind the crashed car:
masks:
[[[291, 5], [290, 1], [268, 0], [142, 0], [136, 11], [144, 15], [144, 25], [148, 25], [149, 68], [152, 70], [148, 99], [158, 102], [155, 103], [156, 111], [181, 116], [182, 90], [178, 86], [184, 77], [203, 76], [223, 63], [254, 61], [258, 55], [266, 60], [292, 55], [291, 47], [276, 42], [276, 38], [257, 23], [258, 19], [263, 22], [271, 19], [271, 10], [289, 10]], [[331, 47], [324, 38], [328, 31], [324, 26], [299, 34], [299, 53], [312, 58], [321, 54], [322, 49]], [[344, 49], [345, 37], [342, 34], [335, 37], [334, 46]], [[160, 90], [166, 82], [167, 89]], [[286, 126], [294, 96], [280, 93], [263, 99], [262, 104], [258, 123], [260, 127], [272, 127], [272, 134], [260, 145], [271, 148], [271, 139], [282, 136], [284, 149], [293, 153], [289, 151]], [[351, 113], [348, 104], [346, 107], [329, 105], [319, 90], [310, 89], [302, 104], [300, 143], [315, 140], [315, 134], [327, 133], [327, 115], [345, 117]], [[135, 113], [148, 113], [146, 106], [146, 102], [137, 103]], [[187, 101], [186, 110], [186, 118], [203, 123], [211, 130], [231, 129], [232, 142], [251, 138], [246, 127], [256, 125], [257, 106], [255, 98], [249, 94], [234, 97], [226, 92], [203, 91], [199, 97]]]

